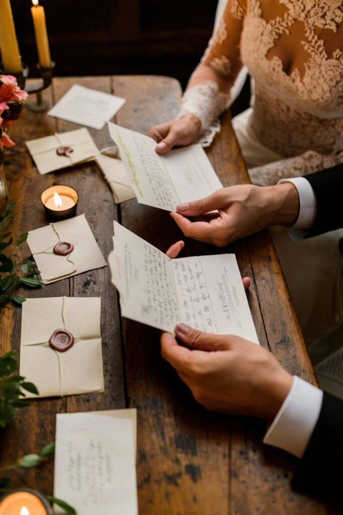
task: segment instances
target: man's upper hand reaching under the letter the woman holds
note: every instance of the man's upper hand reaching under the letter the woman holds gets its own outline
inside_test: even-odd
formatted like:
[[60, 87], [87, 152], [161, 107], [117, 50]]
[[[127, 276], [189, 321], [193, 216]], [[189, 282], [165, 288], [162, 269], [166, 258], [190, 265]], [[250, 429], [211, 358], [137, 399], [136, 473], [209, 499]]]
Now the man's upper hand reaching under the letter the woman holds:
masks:
[[[213, 210], [218, 213], [206, 215]], [[170, 215], [185, 236], [224, 247], [266, 227], [292, 226], [298, 213], [297, 189], [287, 182], [266, 187], [243, 184], [222, 188], [209, 197], [178, 205], [177, 213]], [[190, 221], [186, 216], [201, 218]]]

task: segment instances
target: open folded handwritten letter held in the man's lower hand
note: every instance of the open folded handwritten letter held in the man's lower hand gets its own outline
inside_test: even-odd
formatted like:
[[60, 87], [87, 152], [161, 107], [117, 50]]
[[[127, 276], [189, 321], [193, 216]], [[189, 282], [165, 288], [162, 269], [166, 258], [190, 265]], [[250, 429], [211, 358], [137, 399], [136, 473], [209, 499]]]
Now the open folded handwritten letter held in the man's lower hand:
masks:
[[124, 317], [172, 334], [184, 322], [258, 343], [234, 254], [171, 260], [118, 222], [113, 246], [109, 264]]

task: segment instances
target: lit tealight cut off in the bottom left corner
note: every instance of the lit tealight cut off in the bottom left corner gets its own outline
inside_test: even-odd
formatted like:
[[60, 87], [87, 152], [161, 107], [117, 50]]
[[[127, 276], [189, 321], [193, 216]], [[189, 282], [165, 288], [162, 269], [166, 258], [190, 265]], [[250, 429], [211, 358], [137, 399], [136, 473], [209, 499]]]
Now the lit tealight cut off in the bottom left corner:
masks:
[[0, 515], [52, 515], [45, 497], [28, 488], [12, 490], [0, 501]]

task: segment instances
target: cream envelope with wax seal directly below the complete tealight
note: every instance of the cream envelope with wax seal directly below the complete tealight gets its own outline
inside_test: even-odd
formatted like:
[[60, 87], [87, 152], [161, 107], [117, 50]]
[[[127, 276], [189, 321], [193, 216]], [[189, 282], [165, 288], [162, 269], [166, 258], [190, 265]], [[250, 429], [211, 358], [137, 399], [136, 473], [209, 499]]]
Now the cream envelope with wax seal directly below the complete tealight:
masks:
[[[59, 242], [74, 245], [74, 250], [66, 256], [56, 255], [53, 247]], [[44, 284], [106, 265], [84, 215], [30, 231], [27, 243]]]

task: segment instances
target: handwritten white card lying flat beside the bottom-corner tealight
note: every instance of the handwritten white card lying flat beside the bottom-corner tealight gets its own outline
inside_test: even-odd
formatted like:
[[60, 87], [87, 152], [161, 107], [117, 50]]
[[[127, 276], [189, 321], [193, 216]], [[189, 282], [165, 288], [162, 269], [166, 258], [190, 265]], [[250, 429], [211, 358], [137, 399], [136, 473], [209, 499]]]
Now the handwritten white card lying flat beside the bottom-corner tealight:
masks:
[[136, 515], [136, 410], [58, 414], [54, 483], [78, 515]]

